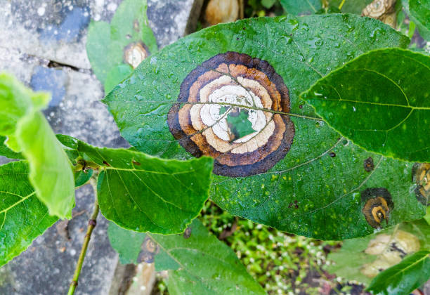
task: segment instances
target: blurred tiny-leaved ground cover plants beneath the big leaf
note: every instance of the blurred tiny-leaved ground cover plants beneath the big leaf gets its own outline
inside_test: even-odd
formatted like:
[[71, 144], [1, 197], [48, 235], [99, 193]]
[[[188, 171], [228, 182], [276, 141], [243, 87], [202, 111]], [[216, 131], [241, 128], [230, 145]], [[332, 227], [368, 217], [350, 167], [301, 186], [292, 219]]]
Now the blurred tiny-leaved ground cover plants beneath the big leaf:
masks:
[[[330, 249], [339, 242], [323, 242], [255, 224], [235, 218], [218, 206], [207, 202], [200, 217], [202, 223], [220, 239], [223, 239], [248, 273], [255, 277], [268, 294], [285, 294], [299, 288], [306, 294], [313, 292], [313, 284], [308, 279], [315, 272], [325, 277], [321, 268], [327, 263], [323, 249]], [[297, 291], [296, 291], [297, 292]]]

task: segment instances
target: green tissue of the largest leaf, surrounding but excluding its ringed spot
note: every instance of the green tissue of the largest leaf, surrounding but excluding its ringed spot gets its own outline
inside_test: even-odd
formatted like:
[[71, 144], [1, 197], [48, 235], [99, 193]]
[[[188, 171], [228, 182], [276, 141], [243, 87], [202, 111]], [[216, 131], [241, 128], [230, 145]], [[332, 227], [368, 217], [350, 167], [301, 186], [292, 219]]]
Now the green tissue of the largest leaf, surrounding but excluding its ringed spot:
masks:
[[[264, 166], [269, 162], [263, 162], [261, 166], [237, 165], [228, 169], [218, 158], [231, 153], [214, 155], [214, 173], [218, 174], [213, 176], [211, 199], [232, 214], [299, 235], [326, 240], [360, 237], [374, 231], [362, 211], [367, 192], [372, 188], [386, 188], [390, 192], [394, 206], [389, 212], [389, 225], [424, 215], [425, 206], [417, 202], [413, 192], [413, 165], [365, 152], [341, 139], [339, 133], [316, 117], [311, 106], [299, 99], [299, 93], [355, 55], [375, 48], [407, 45], [408, 39], [390, 27], [357, 15], [240, 20], [202, 29], [163, 48], [144, 60], [104, 102], [114, 115], [122, 136], [138, 150], [176, 159], [190, 158], [190, 153], [211, 155], [210, 150], [193, 150], [189, 136], [181, 137], [177, 125], [172, 124], [172, 130], [179, 140], [175, 140], [169, 129], [167, 120], [172, 107], [193, 106], [193, 103], [178, 104], [181, 84], [187, 89], [192, 80], [185, 78], [190, 72], [196, 74], [213, 69], [209, 63], [223, 58], [226, 63], [230, 63], [227, 58], [233, 61], [243, 58], [237, 63], [252, 61], [261, 70], [263, 67], [268, 70], [271, 65], [288, 89], [289, 111], [281, 112], [280, 117], [294, 124], [289, 152], [278, 155], [270, 163], [274, 164], [273, 168]], [[253, 71], [249, 70], [249, 75], [257, 79], [257, 75], [252, 76]], [[269, 76], [278, 79], [276, 73], [271, 72]], [[222, 78], [228, 79], [228, 74]], [[242, 86], [237, 88], [247, 90]], [[242, 94], [233, 98], [239, 101]], [[184, 90], [180, 99], [186, 97]], [[228, 103], [207, 104], [211, 105], [220, 110], [232, 107]], [[256, 110], [268, 114], [279, 112], [248, 107], [243, 102], [235, 107], [254, 114]], [[175, 119], [177, 114], [172, 110], [171, 118]], [[284, 134], [291, 140], [291, 129]], [[282, 141], [285, 150], [288, 150], [289, 140]], [[238, 154], [236, 161], [250, 158]], [[372, 157], [374, 169], [366, 168], [367, 171], [364, 164], [369, 157]], [[235, 175], [249, 176], [228, 176], [232, 171]], [[380, 226], [386, 226], [385, 221]]]

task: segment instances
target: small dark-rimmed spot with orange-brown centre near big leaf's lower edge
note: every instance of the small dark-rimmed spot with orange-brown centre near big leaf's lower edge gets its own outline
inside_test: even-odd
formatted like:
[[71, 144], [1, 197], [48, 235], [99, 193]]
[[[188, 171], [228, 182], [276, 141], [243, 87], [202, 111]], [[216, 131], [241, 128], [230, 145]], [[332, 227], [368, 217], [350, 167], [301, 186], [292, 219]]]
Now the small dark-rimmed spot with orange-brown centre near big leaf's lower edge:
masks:
[[389, 215], [393, 211], [391, 194], [385, 188], [367, 188], [361, 192], [362, 212], [367, 223], [373, 228], [381, 228], [382, 222], [389, 223]]

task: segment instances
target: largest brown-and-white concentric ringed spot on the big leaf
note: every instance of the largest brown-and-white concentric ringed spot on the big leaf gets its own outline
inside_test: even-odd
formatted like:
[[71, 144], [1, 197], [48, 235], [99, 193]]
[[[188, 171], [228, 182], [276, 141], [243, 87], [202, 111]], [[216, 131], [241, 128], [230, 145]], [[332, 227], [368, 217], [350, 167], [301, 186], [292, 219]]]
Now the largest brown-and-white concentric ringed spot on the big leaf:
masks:
[[[168, 124], [195, 157], [214, 157], [214, 173], [248, 176], [271, 169], [294, 137], [288, 89], [266, 61], [228, 52], [184, 79]], [[246, 118], [245, 118], [245, 117]]]

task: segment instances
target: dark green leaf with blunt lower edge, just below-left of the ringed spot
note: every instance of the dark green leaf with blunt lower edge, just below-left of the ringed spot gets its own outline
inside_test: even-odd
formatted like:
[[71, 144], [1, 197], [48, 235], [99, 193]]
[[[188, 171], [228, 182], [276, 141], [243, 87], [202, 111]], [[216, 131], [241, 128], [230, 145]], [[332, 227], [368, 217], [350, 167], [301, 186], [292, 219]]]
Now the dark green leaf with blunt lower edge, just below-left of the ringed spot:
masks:
[[[208, 198], [213, 159], [158, 159], [143, 152], [66, 142], [83, 166], [99, 170], [97, 196], [105, 218], [138, 232], [183, 232]], [[78, 160], [79, 162], [79, 160]]]

